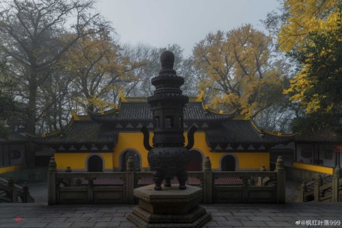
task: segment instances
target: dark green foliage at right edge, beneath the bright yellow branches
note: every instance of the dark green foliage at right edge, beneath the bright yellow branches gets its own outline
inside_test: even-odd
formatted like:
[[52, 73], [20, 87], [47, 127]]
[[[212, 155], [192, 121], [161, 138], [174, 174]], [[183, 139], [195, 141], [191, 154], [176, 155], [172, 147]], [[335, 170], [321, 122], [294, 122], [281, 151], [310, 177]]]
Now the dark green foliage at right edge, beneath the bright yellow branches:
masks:
[[339, 129], [342, 118], [342, 27], [327, 34], [313, 33], [305, 51], [292, 51], [291, 58], [308, 64], [306, 75], [315, 84], [306, 90], [304, 97], [309, 101], [315, 94], [321, 97], [321, 108], [317, 112], [304, 114], [293, 120], [297, 132], [316, 131], [327, 127]]

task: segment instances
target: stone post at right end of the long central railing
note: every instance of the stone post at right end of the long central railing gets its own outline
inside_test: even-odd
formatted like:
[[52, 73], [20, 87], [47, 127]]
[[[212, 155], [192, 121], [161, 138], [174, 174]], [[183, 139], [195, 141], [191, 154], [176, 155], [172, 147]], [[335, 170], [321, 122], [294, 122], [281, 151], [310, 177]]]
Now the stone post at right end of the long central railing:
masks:
[[285, 203], [286, 194], [286, 179], [285, 179], [285, 165], [282, 156], [278, 156], [276, 162], [277, 172], [277, 203]]

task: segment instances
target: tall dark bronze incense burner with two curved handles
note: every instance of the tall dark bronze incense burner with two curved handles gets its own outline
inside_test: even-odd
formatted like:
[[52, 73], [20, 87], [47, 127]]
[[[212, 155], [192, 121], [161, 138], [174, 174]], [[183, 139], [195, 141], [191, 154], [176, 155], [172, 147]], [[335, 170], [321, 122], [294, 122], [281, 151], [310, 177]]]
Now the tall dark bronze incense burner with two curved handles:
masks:
[[161, 182], [170, 187], [170, 180], [177, 177], [179, 189], [185, 190], [187, 181], [187, 165], [189, 164], [189, 149], [194, 146], [192, 126], [188, 133], [188, 144], [184, 146], [183, 136], [184, 107], [189, 97], [182, 94], [183, 77], [176, 75], [173, 69], [174, 54], [164, 51], [160, 57], [161, 70], [153, 77], [152, 84], [156, 90], [148, 97], [148, 103], [153, 111], [153, 147], [149, 144], [149, 133], [142, 127], [144, 147], [148, 152], [148, 163], [153, 170], [155, 190], [161, 190]]

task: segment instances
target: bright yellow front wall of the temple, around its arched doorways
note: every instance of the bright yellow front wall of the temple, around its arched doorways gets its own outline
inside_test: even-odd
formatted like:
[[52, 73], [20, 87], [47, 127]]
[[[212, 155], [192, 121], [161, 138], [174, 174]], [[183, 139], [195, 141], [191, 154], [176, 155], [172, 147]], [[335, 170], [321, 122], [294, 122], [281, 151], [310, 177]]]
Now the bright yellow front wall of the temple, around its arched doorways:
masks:
[[[185, 145], [187, 144], [187, 132], [184, 133]], [[152, 145], [153, 132], [150, 132], [150, 145]], [[141, 132], [120, 132], [118, 142], [113, 153], [55, 153], [57, 169], [64, 170], [70, 166], [72, 170], [86, 170], [87, 158], [92, 154], [98, 154], [105, 161], [105, 170], [120, 169], [120, 156], [125, 151], [137, 151], [140, 154], [142, 170], [148, 168], [146, 149], [143, 144], [144, 136]], [[239, 153], [221, 153], [211, 152], [205, 139], [204, 131], [196, 131], [194, 135], [194, 150], [200, 151], [203, 157], [209, 156], [211, 168], [220, 170], [221, 160], [225, 155], [233, 155], [237, 164], [236, 170], [259, 170], [262, 165], [269, 169], [268, 152], [239, 152]]]

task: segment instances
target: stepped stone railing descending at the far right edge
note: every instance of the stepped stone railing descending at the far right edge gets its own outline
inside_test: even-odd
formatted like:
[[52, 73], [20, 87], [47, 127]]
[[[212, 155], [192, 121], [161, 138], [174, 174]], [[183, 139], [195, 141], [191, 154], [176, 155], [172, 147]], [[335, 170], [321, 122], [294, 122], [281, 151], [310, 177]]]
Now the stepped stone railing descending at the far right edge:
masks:
[[341, 202], [342, 201], [342, 170], [339, 165], [334, 169], [334, 175], [332, 181], [329, 183], [323, 182], [321, 175], [317, 175], [314, 183], [314, 188], [308, 190], [306, 182], [302, 182], [300, 188], [300, 202], [308, 201], [330, 201]]

